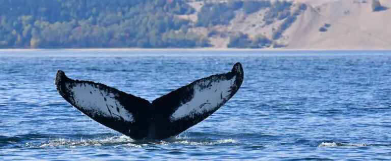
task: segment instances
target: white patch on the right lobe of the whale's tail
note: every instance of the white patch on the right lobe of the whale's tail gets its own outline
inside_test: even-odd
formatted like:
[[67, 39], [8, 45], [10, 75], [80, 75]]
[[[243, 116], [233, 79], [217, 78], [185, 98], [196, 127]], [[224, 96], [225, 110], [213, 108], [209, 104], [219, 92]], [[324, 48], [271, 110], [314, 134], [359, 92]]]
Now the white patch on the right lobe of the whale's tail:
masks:
[[[176, 121], [184, 117], [194, 118], [195, 115], [214, 110], [223, 102], [230, 98], [231, 86], [234, 84], [236, 76], [230, 80], [206, 80], [200, 81], [193, 86], [193, 98], [181, 106], [171, 115], [171, 121]], [[209, 85], [207, 88], [203, 86]]]

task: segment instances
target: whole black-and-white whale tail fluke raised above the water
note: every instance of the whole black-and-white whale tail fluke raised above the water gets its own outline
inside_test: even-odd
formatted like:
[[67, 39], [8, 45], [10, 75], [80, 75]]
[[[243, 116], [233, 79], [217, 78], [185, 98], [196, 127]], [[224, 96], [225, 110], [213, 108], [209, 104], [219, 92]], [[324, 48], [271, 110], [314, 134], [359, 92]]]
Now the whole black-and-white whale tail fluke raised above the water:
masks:
[[116, 88], [73, 80], [58, 71], [55, 85], [63, 98], [95, 121], [133, 139], [165, 139], [201, 122], [224, 105], [243, 82], [237, 62], [225, 74], [180, 87], [152, 103]]

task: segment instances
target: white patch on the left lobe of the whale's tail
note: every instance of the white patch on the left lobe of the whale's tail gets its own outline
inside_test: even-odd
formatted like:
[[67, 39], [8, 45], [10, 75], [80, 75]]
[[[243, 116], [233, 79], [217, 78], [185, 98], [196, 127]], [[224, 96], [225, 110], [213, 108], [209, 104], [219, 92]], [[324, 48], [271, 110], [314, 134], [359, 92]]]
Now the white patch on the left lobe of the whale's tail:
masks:
[[73, 104], [89, 115], [134, 122], [133, 115], [120, 104], [115, 94], [88, 83], [79, 83], [75, 86], [67, 84], [67, 87], [73, 94]]

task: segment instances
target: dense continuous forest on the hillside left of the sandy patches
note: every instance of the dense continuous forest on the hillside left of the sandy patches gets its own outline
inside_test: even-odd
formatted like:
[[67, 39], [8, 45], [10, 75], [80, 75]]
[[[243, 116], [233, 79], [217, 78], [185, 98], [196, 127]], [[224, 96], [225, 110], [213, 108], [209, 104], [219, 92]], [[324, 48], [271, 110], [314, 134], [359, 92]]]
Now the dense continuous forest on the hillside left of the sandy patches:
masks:
[[204, 47], [174, 0], [0, 0], [0, 48]]

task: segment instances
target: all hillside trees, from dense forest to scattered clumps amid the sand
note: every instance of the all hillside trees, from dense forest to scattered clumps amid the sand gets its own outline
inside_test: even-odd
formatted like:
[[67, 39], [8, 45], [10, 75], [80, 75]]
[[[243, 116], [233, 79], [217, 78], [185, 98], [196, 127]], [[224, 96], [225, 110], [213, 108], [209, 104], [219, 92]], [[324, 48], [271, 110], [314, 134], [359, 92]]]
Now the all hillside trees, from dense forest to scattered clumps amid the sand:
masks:
[[[268, 0], [206, 2], [194, 23], [178, 18], [195, 12], [179, 0], [0, 0], [0, 48], [208, 47], [207, 37], [215, 34], [230, 37], [228, 47], [274, 47], [273, 40], [280, 39], [306, 8], [292, 12], [292, 5]], [[189, 29], [228, 25], [235, 12], [261, 9], [266, 10], [266, 25], [283, 21], [273, 31], [273, 40], [216, 31], [204, 37]]]

